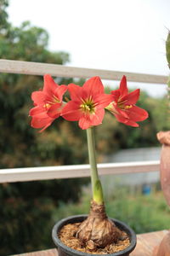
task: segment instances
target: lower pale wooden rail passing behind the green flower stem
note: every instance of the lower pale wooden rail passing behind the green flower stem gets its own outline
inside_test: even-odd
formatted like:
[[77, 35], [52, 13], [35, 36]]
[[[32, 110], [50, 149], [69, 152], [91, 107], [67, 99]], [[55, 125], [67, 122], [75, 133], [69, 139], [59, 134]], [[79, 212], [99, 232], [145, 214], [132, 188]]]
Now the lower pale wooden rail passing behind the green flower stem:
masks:
[[[99, 175], [158, 172], [159, 161], [99, 164]], [[54, 178], [88, 177], [89, 165], [45, 166], [0, 170], [0, 183], [35, 181]]]

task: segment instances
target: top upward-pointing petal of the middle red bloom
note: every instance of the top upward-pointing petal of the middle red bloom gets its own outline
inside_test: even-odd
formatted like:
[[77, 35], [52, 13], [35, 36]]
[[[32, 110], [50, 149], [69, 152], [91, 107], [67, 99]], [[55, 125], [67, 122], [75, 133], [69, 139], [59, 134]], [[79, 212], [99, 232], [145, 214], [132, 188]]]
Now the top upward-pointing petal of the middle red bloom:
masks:
[[104, 93], [104, 85], [99, 77], [88, 79], [82, 86], [83, 90], [87, 92], [88, 96], [95, 96], [96, 94]]

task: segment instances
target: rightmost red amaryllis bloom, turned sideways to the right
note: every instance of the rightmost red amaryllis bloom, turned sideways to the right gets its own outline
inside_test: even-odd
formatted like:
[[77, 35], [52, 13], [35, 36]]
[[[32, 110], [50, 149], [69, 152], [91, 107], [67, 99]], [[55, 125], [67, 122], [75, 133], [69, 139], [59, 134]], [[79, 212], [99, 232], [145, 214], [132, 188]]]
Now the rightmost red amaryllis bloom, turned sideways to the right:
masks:
[[112, 102], [106, 109], [116, 116], [116, 119], [125, 124], [138, 127], [136, 122], [143, 121], [148, 118], [148, 113], [137, 106], [139, 99], [139, 89], [127, 93], [127, 79], [122, 77], [120, 88], [111, 91]]

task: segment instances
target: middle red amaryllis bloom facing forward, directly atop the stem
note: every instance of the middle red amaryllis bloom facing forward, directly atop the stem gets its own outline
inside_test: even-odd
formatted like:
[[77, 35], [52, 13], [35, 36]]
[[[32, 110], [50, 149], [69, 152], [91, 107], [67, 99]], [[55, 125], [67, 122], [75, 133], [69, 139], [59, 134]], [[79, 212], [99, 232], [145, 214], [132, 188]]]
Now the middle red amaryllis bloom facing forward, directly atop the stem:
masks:
[[68, 102], [61, 115], [69, 121], [79, 121], [84, 130], [90, 126], [100, 125], [105, 115], [105, 107], [111, 102], [111, 96], [106, 95], [99, 77], [88, 79], [82, 87], [69, 84], [71, 102]]

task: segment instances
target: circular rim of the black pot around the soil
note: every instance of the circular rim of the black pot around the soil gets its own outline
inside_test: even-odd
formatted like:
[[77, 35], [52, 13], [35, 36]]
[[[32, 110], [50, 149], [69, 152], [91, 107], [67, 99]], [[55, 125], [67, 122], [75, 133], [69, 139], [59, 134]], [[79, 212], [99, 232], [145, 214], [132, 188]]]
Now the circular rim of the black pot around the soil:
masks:
[[[58, 232], [59, 230], [65, 225], [65, 223], [69, 224], [69, 221], [71, 219], [74, 218], [87, 218], [88, 214], [81, 214], [81, 215], [73, 215], [73, 216], [69, 216], [68, 218], [62, 218], [61, 220], [59, 220], [59, 222], [57, 222], [54, 225], [54, 228], [52, 230], [52, 238], [54, 241], [54, 244], [57, 247], [62, 248], [66, 253], [70, 254], [74, 253], [77, 256], [87, 256], [87, 255], [92, 255], [91, 253], [82, 253], [81, 251], [77, 251], [75, 249], [72, 249], [71, 247], [67, 247], [62, 241], [60, 241], [59, 236], [58, 236]], [[128, 255], [129, 253], [131, 253], [134, 249], [134, 247], [136, 247], [136, 234], [134, 233], [134, 231], [125, 223], [123, 223], [122, 221], [116, 219], [116, 218], [109, 218], [111, 219], [113, 222], [120, 224], [123, 227], [123, 230], [128, 230], [128, 236], [130, 236], [130, 245], [125, 248], [122, 251], [119, 251], [117, 253], [108, 253], [108, 255], [110, 256], [121, 256], [121, 255]], [[102, 254], [94, 254], [95, 256], [101, 256]], [[107, 255], [107, 254], [105, 254]]]

